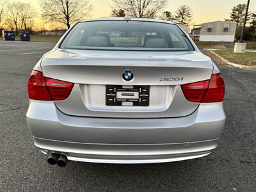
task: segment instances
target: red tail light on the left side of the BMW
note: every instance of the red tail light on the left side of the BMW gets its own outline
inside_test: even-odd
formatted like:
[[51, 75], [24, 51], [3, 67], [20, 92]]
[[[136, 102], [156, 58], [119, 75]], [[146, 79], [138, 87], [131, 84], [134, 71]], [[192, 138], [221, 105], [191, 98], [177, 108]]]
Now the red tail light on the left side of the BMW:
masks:
[[42, 72], [33, 70], [28, 80], [29, 99], [64, 100], [70, 94], [73, 83], [44, 77]]

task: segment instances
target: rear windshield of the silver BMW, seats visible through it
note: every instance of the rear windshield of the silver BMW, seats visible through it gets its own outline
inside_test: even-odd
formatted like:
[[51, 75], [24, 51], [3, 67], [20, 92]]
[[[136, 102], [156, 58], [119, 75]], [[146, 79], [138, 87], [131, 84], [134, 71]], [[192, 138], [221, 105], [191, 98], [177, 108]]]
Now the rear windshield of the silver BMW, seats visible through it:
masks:
[[174, 24], [104, 20], [81, 22], [61, 44], [66, 49], [118, 51], [194, 51], [184, 33]]

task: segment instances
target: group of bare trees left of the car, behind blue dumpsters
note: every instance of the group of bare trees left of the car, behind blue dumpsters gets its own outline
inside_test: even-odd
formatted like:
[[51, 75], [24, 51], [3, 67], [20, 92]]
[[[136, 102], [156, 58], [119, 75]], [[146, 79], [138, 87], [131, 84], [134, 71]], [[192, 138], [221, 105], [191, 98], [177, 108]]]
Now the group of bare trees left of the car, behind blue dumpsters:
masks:
[[90, 0], [40, 0], [40, 13], [30, 4], [22, 1], [0, 0], [0, 32], [3, 29], [33, 31], [35, 20], [43, 23], [59, 23], [70, 28], [72, 24], [92, 12]]

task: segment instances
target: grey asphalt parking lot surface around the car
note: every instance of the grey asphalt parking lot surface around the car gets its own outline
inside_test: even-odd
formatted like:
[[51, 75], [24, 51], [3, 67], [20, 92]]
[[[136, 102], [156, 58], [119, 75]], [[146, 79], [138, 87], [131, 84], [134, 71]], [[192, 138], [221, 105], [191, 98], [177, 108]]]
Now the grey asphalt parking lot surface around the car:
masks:
[[256, 190], [256, 71], [223, 66], [227, 124], [209, 156], [161, 164], [47, 164], [25, 114], [28, 77], [53, 46], [0, 41], [0, 191]]

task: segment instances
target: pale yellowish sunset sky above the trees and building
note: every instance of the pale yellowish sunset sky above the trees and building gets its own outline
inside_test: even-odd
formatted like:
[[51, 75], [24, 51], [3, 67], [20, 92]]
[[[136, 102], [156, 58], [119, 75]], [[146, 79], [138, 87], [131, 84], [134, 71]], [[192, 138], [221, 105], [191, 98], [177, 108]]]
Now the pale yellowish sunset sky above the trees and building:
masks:
[[[8, 1], [8, 0], [6, 0]], [[15, 0], [30, 2], [37, 10], [40, 11], [40, 0]], [[82, 0], [81, 0], [82, 1]], [[111, 0], [91, 0], [93, 4], [92, 17], [106, 17], [111, 13]], [[168, 0], [168, 5], [163, 9], [172, 13], [177, 8], [186, 4], [191, 6], [194, 17], [193, 24], [202, 24], [214, 20], [228, 19], [231, 8], [239, 3], [247, 3], [247, 0]], [[256, 0], [250, 0], [250, 11], [256, 12]]]

